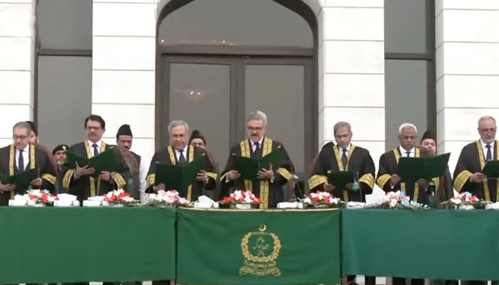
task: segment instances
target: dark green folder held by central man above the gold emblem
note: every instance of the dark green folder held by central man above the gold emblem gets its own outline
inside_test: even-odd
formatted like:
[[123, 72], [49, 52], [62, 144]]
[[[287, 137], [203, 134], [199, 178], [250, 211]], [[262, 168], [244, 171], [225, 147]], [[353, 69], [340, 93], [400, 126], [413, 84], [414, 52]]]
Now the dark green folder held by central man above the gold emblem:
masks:
[[277, 150], [270, 152], [261, 158], [253, 157], [243, 157], [240, 155], [232, 154], [232, 162], [234, 165], [234, 170], [240, 173], [241, 179], [243, 180], [258, 180], [258, 172], [262, 168], [269, 169], [272, 165], [272, 170], [276, 172], [279, 169], [281, 163], [281, 148], [277, 147]]

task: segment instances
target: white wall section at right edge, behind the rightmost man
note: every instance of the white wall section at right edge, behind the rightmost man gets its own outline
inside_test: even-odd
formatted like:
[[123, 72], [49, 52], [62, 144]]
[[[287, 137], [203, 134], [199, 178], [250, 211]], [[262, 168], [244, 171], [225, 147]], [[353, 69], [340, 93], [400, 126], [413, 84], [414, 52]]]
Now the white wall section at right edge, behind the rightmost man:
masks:
[[499, 1], [436, 1], [436, 78], [439, 152], [452, 152], [454, 170], [464, 145], [478, 140], [478, 118], [499, 119]]

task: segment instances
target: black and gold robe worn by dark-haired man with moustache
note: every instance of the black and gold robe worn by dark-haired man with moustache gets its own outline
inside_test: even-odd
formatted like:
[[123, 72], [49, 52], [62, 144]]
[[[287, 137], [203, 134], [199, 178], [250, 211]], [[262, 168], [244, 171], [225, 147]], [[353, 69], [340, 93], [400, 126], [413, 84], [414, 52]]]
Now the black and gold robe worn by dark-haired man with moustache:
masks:
[[[99, 153], [109, 151], [112, 146], [107, 145], [106, 142], [101, 142], [101, 151]], [[90, 145], [88, 141], [78, 142], [76, 145], [71, 145], [69, 150], [75, 152], [83, 157], [91, 158], [93, 157]], [[115, 150], [113, 150], [115, 151]], [[84, 165], [81, 165], [84, 166]], [[75, 165], [64, 165], [63, 167], [63, 188], [68, 189], [68, 193], [78, 197], [78, 200], [83, 206], [83, 200], [88, 199], [88, 197], [94, 197], [99, 195], [104, 195], [109, 191], [115, 189], [124, 189], [126, 186], [126, 181], [130, 175], [128, 166], [122, 160], [120, 162], [120, 171], [111, 173], [111, 180], [109, 182], [102, 181], [99, 178], [94, 178], [91, 176], [83, 176], [78, 179], [74, 179], [73, 175], [75, 172]]]

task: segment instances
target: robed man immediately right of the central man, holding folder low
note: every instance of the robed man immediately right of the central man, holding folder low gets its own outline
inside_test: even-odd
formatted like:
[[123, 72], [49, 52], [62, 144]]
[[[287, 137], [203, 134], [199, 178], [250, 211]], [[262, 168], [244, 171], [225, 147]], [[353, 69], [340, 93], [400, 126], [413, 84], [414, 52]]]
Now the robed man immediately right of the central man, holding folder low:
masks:
[[[333, 127], [333, 142], [326, 143], [319, 152], [314, 169], [309, 178], [310, 192], [317, 190], [328, 191], [332, 185], [328, 184], [327, 172], [329, 171], [354, 171], [358, 179], [359, 190], [354, 190], [353, 185], [345, 185], [344, 189], [333, 189], [335, 197], [342, 201], [365, 202], [366, 195], [374, 189], [374, 175], [376, 169], [369, 151], [351, 144], [351, 125], [347, 122], [338, 122]], [[355, 283], [355, 275], [346, 276], [348, 284]], [[375, 285], [375, 276], [365, 276], [366, 285]]]

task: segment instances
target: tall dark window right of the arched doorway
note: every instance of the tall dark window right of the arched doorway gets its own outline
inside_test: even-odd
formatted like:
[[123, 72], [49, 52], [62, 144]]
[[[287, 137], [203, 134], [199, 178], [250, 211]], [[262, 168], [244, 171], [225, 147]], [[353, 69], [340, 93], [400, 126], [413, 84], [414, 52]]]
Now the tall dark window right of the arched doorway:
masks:
[[398, 126], [436, 132], [435, 1], [385, 0], [386, 149]]

